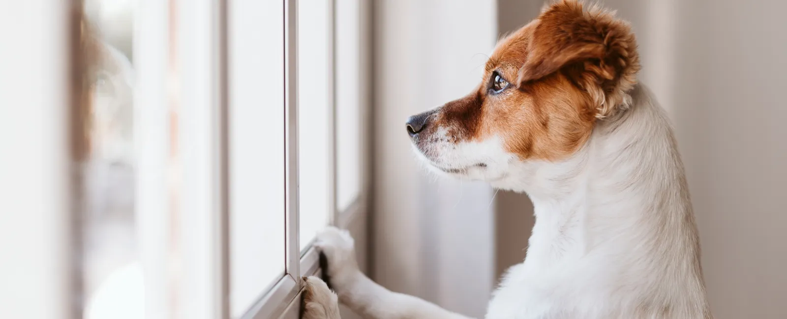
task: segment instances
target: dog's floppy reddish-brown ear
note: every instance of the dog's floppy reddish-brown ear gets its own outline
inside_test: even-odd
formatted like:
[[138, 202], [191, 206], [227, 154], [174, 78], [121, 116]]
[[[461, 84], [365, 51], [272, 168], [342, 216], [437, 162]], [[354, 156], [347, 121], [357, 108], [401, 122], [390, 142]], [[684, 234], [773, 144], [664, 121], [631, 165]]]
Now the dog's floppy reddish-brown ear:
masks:
[[557, 2], [538, 16], [528, 51], [519, 86], [560, 71], [589, 93], [597, 118], [630, 103], [626, 92], [640, 68], [637, 42], [614, 13], [597, 6], [585, 10], [575, 0]]

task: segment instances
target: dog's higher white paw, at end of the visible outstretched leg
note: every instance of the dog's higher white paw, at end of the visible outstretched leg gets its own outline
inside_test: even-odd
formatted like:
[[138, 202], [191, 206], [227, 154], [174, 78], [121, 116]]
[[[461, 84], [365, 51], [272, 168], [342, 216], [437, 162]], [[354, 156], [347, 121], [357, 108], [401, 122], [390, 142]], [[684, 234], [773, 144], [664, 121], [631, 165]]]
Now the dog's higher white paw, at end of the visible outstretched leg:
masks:
[[324, 271], [328, 280], [334, 289], [341, 292], [343, 282], [359, 271], [353, 237], [346, 230], [329, 226], [317, 234], [315, 246], [323, 251], [327, 259]]

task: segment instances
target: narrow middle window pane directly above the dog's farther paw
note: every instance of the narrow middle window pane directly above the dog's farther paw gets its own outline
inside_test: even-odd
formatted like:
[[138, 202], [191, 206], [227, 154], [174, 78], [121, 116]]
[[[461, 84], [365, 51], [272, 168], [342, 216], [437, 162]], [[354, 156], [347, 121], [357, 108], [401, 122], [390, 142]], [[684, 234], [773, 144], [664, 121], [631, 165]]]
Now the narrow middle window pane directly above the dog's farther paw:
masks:
[[305, 248], [328, 220], [328, 6], [298, 6], [298, 158], [300, 242]]

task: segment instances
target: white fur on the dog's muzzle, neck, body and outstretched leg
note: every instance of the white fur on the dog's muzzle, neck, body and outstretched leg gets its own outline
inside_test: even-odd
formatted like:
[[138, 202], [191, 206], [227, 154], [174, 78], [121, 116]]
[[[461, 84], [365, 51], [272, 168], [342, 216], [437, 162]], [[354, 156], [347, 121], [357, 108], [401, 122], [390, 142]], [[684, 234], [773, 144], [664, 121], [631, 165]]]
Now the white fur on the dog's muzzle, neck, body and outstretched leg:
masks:
[[[600, 120], [558, 163], [517, 159], [499, 138], [437, 139], [424, 159], [501, 189], [527, 192], [536, 224], [525, 262], [512, 266], [486, 317], [710, 318], [682, 162], [667, 116], [644, 86], [625, 112]], [[342, 303], [370, 318], [454, 318], [389, 292], [355, 266], [352, 239], [327, 229], [319, 246]]]

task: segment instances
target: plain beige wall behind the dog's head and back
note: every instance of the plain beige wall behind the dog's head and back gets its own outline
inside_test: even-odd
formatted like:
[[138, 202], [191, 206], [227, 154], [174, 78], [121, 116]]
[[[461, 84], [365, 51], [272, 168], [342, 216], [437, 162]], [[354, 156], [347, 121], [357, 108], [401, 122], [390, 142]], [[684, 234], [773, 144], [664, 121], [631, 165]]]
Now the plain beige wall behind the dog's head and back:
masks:
[[[632, 22], [641, 81], [674, 121], [715, 317], [787, 317], [787, 2], [604, 3]], [[540, 6], [500, 0], [500, 30]], [[501, 270], [523, 256], [529, 233], [512, 224], [530, 225], [532, 213], [525, 196], [498, 199]]]

